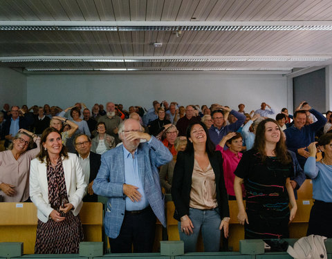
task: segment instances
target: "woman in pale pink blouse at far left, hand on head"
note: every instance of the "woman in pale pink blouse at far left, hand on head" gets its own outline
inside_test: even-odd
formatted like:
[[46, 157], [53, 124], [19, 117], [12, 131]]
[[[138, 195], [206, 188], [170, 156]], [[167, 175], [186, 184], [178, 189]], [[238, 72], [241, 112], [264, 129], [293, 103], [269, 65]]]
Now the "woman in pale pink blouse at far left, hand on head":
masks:
[[[28, 151], [33, 142], [37, 148]], [[21, 128], [7, 151], [0, 152], [0, 196], [3, 202], [29, 199], [30, 161], [39, 153], [40, 138]]]

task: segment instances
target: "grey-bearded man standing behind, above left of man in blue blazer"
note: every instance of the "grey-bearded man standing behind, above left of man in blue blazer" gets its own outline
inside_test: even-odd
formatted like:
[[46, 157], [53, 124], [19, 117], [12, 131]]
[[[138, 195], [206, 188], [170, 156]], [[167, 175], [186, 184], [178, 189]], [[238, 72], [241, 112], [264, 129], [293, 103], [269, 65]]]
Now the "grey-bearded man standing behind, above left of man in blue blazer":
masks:
[[106, 104], [106, 115], [100, 117], [98, 122], [104, 122], [106, 133], [115, 137], [116, 143], [118, 143], [118, 126], [122, 122], [122, 119], [116, 115], [116, 105], [113, 102]]

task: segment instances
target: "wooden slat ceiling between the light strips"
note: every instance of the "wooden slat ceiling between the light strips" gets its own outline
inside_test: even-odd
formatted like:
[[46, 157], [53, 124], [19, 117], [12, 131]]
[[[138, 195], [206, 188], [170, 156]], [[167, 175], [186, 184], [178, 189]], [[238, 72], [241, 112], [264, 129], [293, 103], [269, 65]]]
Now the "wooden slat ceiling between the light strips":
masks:
[[[332, 25], [331, 0], [0, 0], [6, 21], [302, 22]], [[163, 43], [155, 48], [155, 42]], [[6, 57], [332, 57], [331, 30], [0, 30], [0, 66], [10, 68], [304, 68], [327, 61], [1, 62]]]

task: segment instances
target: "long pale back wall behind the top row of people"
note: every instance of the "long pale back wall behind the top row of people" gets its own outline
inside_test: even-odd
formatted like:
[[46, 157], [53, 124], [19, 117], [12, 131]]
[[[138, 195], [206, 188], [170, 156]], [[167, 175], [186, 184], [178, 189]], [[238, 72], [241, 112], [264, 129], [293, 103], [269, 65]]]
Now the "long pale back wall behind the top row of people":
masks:
[[237, 73], [129, 73], [114, 75], [29, 75], [28, 105], [46, 103], [66, 108], [75, 102], [93, 104], [115, 102], [124, 108], [140, 105], [150, 108], [154, 99], [179, 104], [219, 103], [246, 111], [261, 102], [277, 112], [287, 106], [287, 79], [282, 75]]

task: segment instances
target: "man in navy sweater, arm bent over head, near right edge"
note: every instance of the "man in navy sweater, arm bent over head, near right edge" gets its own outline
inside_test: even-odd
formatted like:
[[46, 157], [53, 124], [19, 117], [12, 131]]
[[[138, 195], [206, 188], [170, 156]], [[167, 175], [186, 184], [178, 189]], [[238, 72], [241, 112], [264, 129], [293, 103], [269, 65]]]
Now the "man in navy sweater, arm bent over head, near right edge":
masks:
[[[317, 122], [306, 125], [307, 111], [317, 117]], [[304, 104], [302, 110], [295, 111], [293, 126], [284, 131], [287, 148], [296, 154], [302, 168], [304, 168], [306, 158], [309, 157], [307, 146], [315, 141], [315, 132], [320, 130], [324, 124], [326, 124], [326, 119], [322, 113], [315, 111], [308, 104]]]

